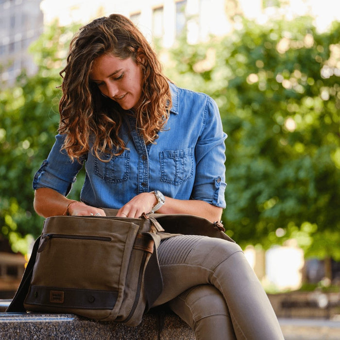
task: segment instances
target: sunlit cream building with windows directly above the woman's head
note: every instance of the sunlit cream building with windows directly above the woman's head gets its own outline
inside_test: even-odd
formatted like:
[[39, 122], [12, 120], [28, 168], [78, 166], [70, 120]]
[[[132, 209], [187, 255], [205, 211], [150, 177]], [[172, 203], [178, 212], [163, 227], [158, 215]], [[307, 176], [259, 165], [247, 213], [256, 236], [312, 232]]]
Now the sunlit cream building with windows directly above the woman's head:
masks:
[[[259, 1], [259, 0], [254, 0]], [[165, 47], [172, 46], [182, 32], [186, 19], [189, 39], [198, 42], [209, 34], [228, 31], [226, 3], [233, 0], [42, 0], [45, 21], [58, 18], [61, 25], [71, 22], [85, 23], [94, 17], [120, 13], [130, 17], [151, 42], [161, 40]]]

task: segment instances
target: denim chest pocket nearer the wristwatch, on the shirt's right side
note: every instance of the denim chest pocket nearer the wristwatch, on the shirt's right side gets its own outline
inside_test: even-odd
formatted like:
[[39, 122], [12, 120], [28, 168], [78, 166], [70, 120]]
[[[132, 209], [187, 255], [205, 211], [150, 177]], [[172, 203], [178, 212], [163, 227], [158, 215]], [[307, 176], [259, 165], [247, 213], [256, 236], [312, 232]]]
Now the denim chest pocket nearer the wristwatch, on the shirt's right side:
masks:
[[161, 181], [179, 186], [193, 176], [193, 148], [185, 150], [167, 150], [159, 153]]

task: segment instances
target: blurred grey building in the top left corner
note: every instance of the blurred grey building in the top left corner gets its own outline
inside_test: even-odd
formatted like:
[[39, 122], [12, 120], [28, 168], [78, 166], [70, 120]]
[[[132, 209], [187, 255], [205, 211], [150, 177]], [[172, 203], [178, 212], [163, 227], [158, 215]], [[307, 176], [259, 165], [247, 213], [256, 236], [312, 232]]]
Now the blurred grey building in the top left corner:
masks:
[[34, 74], [27, 48], [43, 32], [41, 0], [0, 0], [0, 84], [13, 84], [22, 69]]

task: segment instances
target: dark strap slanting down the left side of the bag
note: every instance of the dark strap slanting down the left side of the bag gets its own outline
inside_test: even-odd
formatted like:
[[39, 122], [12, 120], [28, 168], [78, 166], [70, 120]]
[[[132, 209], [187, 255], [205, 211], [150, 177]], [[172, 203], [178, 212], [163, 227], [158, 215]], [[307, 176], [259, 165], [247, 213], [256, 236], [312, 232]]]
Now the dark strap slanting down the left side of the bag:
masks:
[[24, 312], [24, 313], [26, 312], [26, 308], [24, 307], [24, 300], [30, 288], [30, 283], [31, 283], [34, 263], [36, 259], [36, 253], [39, 247], [39, 242], [40, 242], [40, 236], [34, 242], [32, 254], [27, 263], [25, 272], [22, 275], [20, 285], [17, 289], [16, 294], [14, 295], [14, 298], [12, 299], [12, 302], [7, 307], [6, 312], [13, 312], [13, 313], [14, 312]]

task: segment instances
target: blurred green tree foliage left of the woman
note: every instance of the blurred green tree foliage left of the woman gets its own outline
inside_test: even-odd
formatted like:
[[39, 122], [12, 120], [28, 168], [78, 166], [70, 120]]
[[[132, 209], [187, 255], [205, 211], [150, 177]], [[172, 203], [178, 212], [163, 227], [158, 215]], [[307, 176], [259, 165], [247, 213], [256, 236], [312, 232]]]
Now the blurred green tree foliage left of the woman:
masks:
[[58, 72], [72, 28], [54, 23], [31, 47], [38, 72], [23, 72], [0, 93], [0, 231], [15, 252], [26, 253], [43, 219], [33, 209], [34, 173], [57, 133], [61, 77]]

